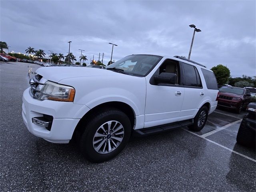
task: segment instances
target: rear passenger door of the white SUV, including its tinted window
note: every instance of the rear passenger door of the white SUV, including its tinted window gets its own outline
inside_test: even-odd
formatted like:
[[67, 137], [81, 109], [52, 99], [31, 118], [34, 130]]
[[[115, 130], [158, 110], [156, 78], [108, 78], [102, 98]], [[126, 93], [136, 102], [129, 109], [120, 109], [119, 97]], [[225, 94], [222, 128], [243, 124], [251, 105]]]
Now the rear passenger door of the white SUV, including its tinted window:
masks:
[[195, 66], [182, 62], [182, 70], [184, 77], [182, 84], [184, 85], [184, 97], [181, 115], [191, 116], [196, 114], [200, 104], [202, 103], [206, 92], [202, 87], [202, 82]]

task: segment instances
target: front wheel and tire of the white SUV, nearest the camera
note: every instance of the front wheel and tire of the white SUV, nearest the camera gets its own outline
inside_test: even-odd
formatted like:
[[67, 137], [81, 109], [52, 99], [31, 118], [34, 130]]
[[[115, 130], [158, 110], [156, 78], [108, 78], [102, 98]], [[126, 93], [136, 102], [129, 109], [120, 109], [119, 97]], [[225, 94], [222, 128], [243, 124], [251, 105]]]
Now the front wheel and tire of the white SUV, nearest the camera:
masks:
[[91, 162], [110, 160], [124, 149], [130, 138], [130, 119], [116, 108], [101, 110], [91, 117], [84, 125], [80, 150]]

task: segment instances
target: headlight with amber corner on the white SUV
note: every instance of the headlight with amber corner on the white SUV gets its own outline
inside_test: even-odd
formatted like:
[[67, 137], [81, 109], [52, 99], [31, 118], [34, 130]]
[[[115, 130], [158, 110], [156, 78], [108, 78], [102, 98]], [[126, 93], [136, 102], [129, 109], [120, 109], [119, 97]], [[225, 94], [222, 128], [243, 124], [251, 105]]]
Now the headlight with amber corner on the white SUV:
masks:
[[73, 102], [74, 97], [75, 89], [73, 87], [47, 81], [43, 85], [38, 99]]

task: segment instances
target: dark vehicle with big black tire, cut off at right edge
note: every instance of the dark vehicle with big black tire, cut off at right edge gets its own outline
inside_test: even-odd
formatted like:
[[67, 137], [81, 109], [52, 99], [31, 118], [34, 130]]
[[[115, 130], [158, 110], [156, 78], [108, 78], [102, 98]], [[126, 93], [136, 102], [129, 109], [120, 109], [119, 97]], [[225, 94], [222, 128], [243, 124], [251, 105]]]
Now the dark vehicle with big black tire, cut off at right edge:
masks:
[[254, 147], [256, 145], [256, 103], [248, 104], [246, 114], [240, 124], [236, 141], [247, 147]]

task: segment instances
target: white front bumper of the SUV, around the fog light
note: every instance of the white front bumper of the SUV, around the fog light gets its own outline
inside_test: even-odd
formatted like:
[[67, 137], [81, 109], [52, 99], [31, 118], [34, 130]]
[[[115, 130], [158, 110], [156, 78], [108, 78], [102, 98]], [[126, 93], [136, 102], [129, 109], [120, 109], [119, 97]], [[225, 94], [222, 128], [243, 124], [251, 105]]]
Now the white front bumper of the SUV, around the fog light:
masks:
[[[29, 89], [24, 91], [22, 98], [22, 118], [29, 132], [50, 142], [68, 143], [79, 120], [90, 108], [72, 102], [39, 101], [30, 96]], [[50, 131], [32, 123], [32, 118], [43, 114], [53, 116]]]

